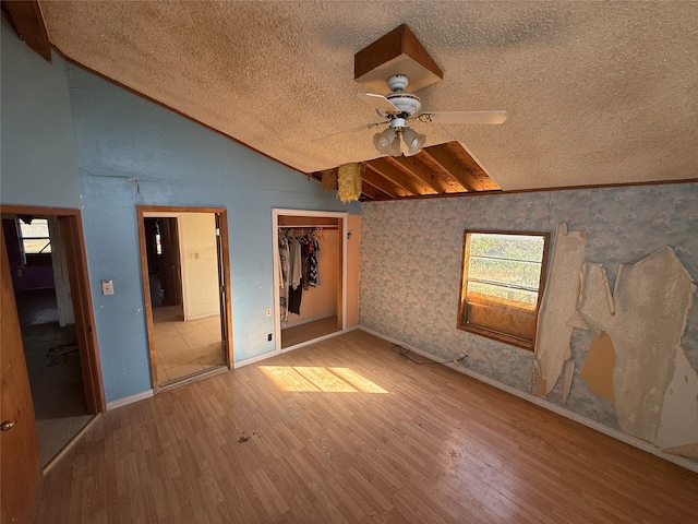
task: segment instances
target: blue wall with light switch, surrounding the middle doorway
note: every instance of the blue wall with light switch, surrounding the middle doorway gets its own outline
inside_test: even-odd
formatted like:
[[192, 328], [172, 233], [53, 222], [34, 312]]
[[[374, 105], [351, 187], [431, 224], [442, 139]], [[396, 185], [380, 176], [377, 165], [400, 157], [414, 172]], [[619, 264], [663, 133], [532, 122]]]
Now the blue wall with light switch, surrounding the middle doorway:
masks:
[[[301, 174], [68, 68], [107, 400], [151, 388], [135, 206], [228, 210], [236, 361], [275, 349], [272, 209], [359, 211]], [[112, 279], [113, 296], [100, 281]]]

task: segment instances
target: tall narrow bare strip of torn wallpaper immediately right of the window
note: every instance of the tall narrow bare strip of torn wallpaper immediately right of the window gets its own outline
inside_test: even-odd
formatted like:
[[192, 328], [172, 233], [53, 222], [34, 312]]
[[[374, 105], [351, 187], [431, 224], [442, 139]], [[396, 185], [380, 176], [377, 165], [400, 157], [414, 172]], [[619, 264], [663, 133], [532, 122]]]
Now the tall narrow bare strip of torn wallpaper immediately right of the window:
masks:
[[[531, 391], [547, 395], [555, 386], [571, 350], [573, 326], [567, 321], [576, 313], [579, 298], [579, 273], [585, 262], [587, 237], [581, 231], [567, 231], [557, 226], [555, 250], [551, 258], [550, 276], [539, 314]], [[574, 371], [574, 367], [573, 367]], [[569, 384], [565, 391], [569, 392]], [[566, 394], [563, 396], [566, 397]]]

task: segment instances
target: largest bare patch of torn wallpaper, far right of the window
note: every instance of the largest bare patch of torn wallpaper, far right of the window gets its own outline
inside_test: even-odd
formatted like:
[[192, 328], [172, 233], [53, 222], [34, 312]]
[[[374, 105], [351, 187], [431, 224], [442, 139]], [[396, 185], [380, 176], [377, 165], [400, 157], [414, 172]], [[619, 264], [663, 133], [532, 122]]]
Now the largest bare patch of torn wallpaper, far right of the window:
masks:
[[613, 294], [603, 266], [585, 264], [579, 312], [594, 334], [606, 332], [613, 341], [614, 409], [627, 434], [648, 442], [658, 438], [694, 290], [669, 247], [635, 265], [621, 265]]

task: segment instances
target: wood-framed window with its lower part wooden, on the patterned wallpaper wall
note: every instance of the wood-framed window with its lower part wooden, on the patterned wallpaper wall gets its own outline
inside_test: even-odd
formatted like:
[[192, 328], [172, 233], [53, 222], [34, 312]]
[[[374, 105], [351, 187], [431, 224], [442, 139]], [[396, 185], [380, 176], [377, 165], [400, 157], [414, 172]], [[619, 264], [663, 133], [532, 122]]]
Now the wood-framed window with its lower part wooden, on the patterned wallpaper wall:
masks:
[[534, 349], [547, 233], [466, 231], [458, 329]]

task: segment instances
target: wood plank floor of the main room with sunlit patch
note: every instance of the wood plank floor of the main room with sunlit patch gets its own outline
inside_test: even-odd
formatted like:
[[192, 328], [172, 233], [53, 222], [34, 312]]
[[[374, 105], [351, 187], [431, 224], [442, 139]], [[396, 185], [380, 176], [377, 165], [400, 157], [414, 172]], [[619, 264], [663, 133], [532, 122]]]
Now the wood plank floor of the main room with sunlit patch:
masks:
[[43, 523], [696, 522], [698, 475], [361, 331], [108, 412]]

